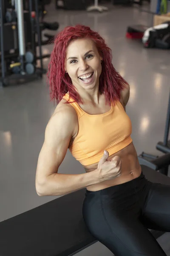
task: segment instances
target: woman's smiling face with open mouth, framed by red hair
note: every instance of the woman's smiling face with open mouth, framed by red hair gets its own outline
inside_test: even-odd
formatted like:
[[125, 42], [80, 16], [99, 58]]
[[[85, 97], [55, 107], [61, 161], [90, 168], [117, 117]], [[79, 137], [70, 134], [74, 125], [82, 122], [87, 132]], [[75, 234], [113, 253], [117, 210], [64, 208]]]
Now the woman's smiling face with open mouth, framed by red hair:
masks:
[[77, 89], [99, 87], [99, 76], [102, 72], [102, 57], [88, 38], [71, 41], [68, 45], [65, 70]]

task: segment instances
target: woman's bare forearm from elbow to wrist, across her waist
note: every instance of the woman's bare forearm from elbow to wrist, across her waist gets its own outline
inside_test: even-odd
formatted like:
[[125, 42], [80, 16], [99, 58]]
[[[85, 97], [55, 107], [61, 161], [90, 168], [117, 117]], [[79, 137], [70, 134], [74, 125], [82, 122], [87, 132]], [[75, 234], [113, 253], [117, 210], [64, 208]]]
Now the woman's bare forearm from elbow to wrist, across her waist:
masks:
[[66, 195], [96, 183], [100, 183], [97, 169], [83, 174], [54, 173], [38, 189], [40, 196]]

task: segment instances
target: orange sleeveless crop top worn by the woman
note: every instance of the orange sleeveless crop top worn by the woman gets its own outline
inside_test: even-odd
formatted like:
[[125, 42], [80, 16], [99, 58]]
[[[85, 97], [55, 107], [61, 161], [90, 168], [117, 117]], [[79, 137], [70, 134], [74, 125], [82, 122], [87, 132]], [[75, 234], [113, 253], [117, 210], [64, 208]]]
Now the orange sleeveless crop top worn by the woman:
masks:
[[[63, 96], [68, 101], [68, 93]], [[74, 101], [71, 97], [69, 100]], [[109, 155], [125, 148], [132, 142], [132, 125], [121, 102], [111, 104], [111, 110], [98, 115], [90, 115], [77, 102], [70, 103], [77, 112], [79, 131], [69, 150], [82, 165], [99, 162], [104, 151]]]

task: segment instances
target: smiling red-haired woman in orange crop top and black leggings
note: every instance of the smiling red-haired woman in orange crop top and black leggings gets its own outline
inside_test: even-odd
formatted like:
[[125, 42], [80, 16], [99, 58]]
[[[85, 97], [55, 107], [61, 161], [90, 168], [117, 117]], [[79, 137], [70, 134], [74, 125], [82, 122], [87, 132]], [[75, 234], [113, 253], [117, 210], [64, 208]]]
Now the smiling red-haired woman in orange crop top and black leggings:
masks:
[[[165, 256], [147, 228], [170, 231], [170, 186], [142, 173], [125, 112], [129, 85], [111, 60], [111, 49], [89, 27], [57, 35], [48, 78], [58, 105], [38, 159], [37, 194], [86, 188], [85, 224], [115, 256]], [[68, 148], [84, 174], [57, 173]]]

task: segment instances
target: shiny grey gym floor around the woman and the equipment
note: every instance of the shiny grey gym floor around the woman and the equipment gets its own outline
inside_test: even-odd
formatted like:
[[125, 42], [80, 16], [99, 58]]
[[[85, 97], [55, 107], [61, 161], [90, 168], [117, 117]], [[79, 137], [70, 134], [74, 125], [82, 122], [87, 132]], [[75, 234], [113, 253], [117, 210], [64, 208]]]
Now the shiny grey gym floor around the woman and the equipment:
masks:
[[[125, 38], [128, 25], [152, 26], [153, 15], [139, 7], [109, 6], [105, 13], [56, 10], [54, 1], [47, 6], [45, 21], [65, 26], [82, 23], [101, 34], [113, 51], [113, 65], [130, 84], [127, 114], [133, 125], [136, 151], [161, 154], [156, 143], [163, 140], [170, 79], [170, 57], [167, 50], [145, 49], [138, 41]], [[148, 10], [148, 3], [142, 9]], [[44, 31], [48, 32], [49, 31]], [[51, 31], [50, 31], [51, 33]], [[55, 32], [52, 32], [55, 34]], [[50, 53], [53, 45], [43, 46]], [[43, 60], [48, 67], [49, 59]], [[0, 90], [0, 221], [11, 218], [57, 197], [39, 197], [35, 190], [37, 159], [44, 141], [45, 127], [55, 105], [49, 100], [46, 75], [42, 80], [6, 87]], [[68, 151], [59, 172], [79, 174], [82, 166]], [[158, 239], [170, 256], [170, 235]], [[99, 242], [78, 256], [110, 256]]]

